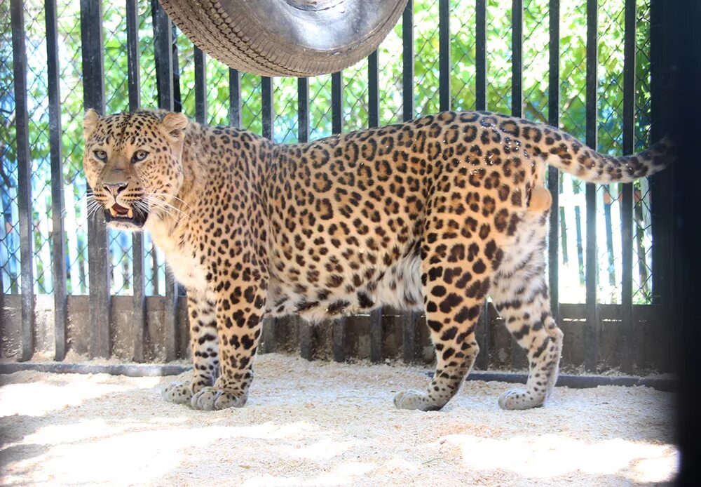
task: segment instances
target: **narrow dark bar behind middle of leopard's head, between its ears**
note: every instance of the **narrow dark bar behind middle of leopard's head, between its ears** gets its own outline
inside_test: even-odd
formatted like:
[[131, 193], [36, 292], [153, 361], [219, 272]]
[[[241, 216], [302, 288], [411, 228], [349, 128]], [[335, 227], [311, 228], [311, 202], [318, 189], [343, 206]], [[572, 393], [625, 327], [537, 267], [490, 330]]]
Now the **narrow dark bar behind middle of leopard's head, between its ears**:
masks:
[[[126, 0], [127, 11], [127, 67], [129, 85], [129, 110], [141, 106], [141, 79], [139, 74], [139, 11], [137, 0]], [[144, 275], [144, 234], [132, 233], [132, 326], [134, 331], [133, 357], [144, 361], [146, 342], [146, 277]]]

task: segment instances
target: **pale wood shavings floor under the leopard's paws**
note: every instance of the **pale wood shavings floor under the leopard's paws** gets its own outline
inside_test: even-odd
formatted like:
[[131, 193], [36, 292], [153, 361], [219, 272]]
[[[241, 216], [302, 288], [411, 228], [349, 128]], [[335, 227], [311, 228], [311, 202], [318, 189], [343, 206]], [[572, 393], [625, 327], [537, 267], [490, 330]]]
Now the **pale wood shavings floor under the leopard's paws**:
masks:
[[501, 411], [512, 385], [467, 382], [443, 411], [397, 411], [419, 368], [257, 359], [243, 409], [165, 403], [174, 378], [0, 376], [0, 484], [625, 486], [669, 481], [672, 395], [558, 387]]

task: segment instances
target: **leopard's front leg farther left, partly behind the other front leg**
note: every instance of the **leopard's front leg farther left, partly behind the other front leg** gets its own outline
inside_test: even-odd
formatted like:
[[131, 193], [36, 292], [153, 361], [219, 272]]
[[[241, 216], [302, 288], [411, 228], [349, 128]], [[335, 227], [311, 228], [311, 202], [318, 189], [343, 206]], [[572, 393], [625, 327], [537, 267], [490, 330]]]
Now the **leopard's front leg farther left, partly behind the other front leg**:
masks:
[[215, 294], [190, 289], [187, 293], [187, 307], [190, 317], [192, 379], [189, 382], [172, 382], [163, 391], [163, 399], [177, 404], [189, 404], [193, 394], [214, 384], [219, 375]]

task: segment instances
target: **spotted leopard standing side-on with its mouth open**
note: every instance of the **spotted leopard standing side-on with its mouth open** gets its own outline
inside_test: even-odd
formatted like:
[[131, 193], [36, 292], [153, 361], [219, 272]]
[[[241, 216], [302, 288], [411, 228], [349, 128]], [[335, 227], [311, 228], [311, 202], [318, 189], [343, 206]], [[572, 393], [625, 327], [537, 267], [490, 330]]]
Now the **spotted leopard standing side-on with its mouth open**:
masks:
[[545, 169], [631, 182], [674, 147], [611, 156], [492, 112], [296, 144], [159, 109], [90, 109], [83, 129], [92, 203], [108, 227], [150, 232], [186, 289], [192, 378], [163, 397], [205, 411], [247, 402], [264, 318], [328, 323], [383, 306], [425, 313], [435, 347], [428, 386], [397, 393], [395, 407], [440, 410], [475, 363], [488, 296], [529, 363], [498, 405], [543, 406], [563, 341], [545, 278]]

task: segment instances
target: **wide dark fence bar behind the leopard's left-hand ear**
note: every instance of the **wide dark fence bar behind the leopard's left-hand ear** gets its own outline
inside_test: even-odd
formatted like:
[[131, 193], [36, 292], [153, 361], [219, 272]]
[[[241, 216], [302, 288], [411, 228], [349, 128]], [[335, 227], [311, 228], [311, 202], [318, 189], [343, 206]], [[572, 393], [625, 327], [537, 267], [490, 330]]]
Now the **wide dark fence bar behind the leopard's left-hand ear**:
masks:
[[[81, 0], [81, 45], [83, 50], [83, 105], [104, 114], [104, 49], [102, 47], [102, 2]], [[109, 244], [104, 214], [88, 218], [90, 260], [90, 358], [109, 356], [111, 296], [109, 289]]]

